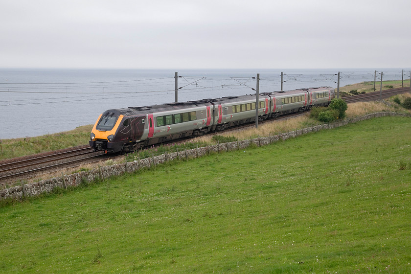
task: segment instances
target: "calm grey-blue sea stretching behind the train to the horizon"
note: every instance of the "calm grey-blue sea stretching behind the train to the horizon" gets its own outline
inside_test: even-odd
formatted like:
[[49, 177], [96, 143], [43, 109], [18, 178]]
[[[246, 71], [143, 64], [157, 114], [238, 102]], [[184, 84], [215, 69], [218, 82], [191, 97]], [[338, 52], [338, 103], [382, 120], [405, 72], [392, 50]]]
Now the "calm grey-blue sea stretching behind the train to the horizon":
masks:
[[[376, 72], [375, 72], [376, 71]], [[410, 81], [410, 68], [62, 69], [0, 68], [0, 139], [94, 124], [108, 109], [383, 80]], [[403, 76], [404, 75], [404, 76]], [[408, 84], [408, 83], [407, 83]]]

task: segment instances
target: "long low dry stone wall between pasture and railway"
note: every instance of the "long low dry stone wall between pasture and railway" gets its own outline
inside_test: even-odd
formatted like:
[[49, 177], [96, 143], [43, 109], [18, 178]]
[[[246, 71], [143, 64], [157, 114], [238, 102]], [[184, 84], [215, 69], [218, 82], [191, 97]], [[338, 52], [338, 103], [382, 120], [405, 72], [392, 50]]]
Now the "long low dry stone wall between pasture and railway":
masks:
[[290, 131], [286, 133], [281, 133], [274, 136], [269, 137], [258, 137], [251, 140], [242, 140], [242, 141], [234, 141], [229, 143], [222, 143], [217, 145], [211, 145], [208, 147], [200, 147], [185, 151], [178, 151], [172, 153], [166, 153], [158, 156], [153, 156], [151, 158], [135, 160], [133, 162], [124, 162], [120, 164], [114, 164], [110, 166], [102, 166], [98, 169], [90, 170], [90, 171], [82, 171], [79, 173], [69, 174], [69, 175], [62, 175], [61, 177], [54, 177], [51, 179], [42, 180], [36, 183], [22, 183], [21, 185], [17, 185], [11, 188], [3, 189], [0, 191], [0, 199], [22, 199], [23, 197], [31, 197], [31, 196], [38, 196], [42, 193], [49, 193], [53, 191], [54, 188], [68, 188], [68, 187], [75, 187], [80, 185], [83, 182], [93, 182], [94, 180], [105, 180], [112, 176], [119, 176], [124, 173], [131, 173], [141, 168], [149, 168], [151, 166], [155, 166], [166, 161], [171, 160], [183, 160], [183, 159], [190, 159], [190, 158], [198, 158], [205, 155], [209, 155], [210, 153], [221, 153], [226, 151], [234, 151], [245, 149], [251, 145], [251, 143], [257, 146], [268, 145], [270, 143], [279, 141], [279, 140], [286, 140], [289, 138], [295, 138], [300, 135], [309, 134], [311, 132], [318, 132], [324, 129], [332, 129], [344, 126], [350, 123], [356, 123], [359, 121], [383, 117], [383, 116], [403, 116], [403, 117], [410, 117], [407, 114], [398, 114], [398, 113], [389, 113], [389, 112], [382, 112], [382, 113], [374, 113], [374, 114], [367, 114], [357, 118], [345, 119], [342, 121], [337, 121], [330, 124], [322, 124], [318, 126], [308, 127], [304, 129], [299, 129], [295, 131]]

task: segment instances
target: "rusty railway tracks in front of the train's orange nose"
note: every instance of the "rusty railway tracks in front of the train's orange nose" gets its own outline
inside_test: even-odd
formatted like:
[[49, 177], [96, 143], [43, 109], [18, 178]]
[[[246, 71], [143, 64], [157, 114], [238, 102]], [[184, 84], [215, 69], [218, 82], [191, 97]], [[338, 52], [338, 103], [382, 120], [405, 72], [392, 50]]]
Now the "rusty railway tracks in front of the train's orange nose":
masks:
[[0, 162], [0, 185], [29, 180], [39, 175], [106, 160], [103, 152], [87, 145]]

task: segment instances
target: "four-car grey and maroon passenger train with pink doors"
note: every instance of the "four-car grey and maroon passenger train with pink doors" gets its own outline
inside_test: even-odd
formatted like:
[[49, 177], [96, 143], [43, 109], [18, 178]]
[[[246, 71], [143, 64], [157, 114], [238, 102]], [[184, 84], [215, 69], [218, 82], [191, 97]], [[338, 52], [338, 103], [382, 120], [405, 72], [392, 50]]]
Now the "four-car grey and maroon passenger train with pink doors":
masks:
[[222, 131], [240, 124], [328, 106], [335, 97], [331, 87], [227, 96], [189, 102], [113, 109], [100, 114], [91, 131], [90, 146], [106, 153], [137, 149]]

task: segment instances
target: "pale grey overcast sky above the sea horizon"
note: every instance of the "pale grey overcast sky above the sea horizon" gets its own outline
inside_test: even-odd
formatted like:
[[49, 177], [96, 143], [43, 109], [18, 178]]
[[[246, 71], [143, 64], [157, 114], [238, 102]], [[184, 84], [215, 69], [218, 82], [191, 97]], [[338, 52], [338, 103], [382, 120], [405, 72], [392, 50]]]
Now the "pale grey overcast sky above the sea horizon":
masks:
[[410, 68], [411, 0], [0, 0], [3, 68]]

